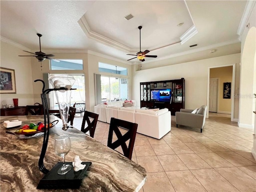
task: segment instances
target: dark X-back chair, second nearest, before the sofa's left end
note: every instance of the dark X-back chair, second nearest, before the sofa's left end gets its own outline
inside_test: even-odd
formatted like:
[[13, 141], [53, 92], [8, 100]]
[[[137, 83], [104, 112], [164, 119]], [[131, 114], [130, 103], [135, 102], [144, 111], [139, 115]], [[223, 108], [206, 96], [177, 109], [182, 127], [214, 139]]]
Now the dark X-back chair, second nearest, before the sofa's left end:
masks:
[[[93, 120], [90, 121], [89, 117], [93, 118]], [[83, 121], [82, 121], [81, 131], [84, 132], [84, 133], [89, 131], [90, 136], [93, 138], [94, 133], [95, 133], [95, 129], [96, 129], [96, 125], [97, 125], [97, 122], [98, 122], [98, 117], [99, 117], [99, 114], [89, 112], [89, 111], [85, 111], [84, 112], [84, 118], [83, 118]], [[86, 123], [87, 123], [87, 127], [85, 128]]]

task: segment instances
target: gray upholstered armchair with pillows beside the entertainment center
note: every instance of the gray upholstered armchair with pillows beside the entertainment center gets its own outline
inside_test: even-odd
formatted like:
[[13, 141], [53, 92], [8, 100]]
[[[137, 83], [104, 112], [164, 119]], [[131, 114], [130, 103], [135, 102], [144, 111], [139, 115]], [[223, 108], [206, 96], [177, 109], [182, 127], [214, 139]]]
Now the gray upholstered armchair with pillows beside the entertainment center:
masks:
[[176, 127], [178, 125], [190, 126], [195, 128], [200, 128], [201, 133], [204, 128], [207, 106], [202, 105], [196, 112], [196, 114], [191, 113], [193, 110], [190, 109], [180, 109], [180, 112], [176, 112]]

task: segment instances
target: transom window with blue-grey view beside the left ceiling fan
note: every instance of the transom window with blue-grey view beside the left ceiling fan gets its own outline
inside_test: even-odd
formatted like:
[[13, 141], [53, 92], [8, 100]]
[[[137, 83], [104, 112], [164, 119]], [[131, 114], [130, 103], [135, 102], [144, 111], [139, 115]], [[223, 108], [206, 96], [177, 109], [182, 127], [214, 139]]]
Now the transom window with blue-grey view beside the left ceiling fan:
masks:
[[82, 59], [58, 59], [60, 62], [50, 60], [51, 70], [83, 70]]

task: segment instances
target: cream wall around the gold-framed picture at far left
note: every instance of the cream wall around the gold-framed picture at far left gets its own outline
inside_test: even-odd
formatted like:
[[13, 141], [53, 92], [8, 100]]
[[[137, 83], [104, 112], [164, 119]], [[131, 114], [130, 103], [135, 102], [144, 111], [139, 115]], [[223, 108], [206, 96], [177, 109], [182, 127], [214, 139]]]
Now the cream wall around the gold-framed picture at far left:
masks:
[[1, 94], [0, 108], [3, 100], [7, 105], [13, 104], [13, 98], [19, 99], [18, 106], [34, 104], [31, 57], [18, 56], [24, 53], [20, 48], [1, 41], [1, 67], [15, 70], [16, 94]]

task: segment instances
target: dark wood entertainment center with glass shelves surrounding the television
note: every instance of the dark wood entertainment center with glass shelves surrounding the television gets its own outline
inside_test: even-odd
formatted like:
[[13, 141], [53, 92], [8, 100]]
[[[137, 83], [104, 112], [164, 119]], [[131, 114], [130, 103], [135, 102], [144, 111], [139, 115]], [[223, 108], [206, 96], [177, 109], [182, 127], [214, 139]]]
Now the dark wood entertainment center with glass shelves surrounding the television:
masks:
[[[171, 89], [171, 97], [163, 99], [158, 96], [154, 98], [154, 92], [158, 94], [169, 94]], [[168, 100], [168, 101], [167, 101]], [[140, 107], [148, 108], [168, 108], [172, 115], [176, 111], [185, 108], [185, 79], [152, 81], [140, 83]]]

